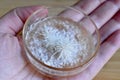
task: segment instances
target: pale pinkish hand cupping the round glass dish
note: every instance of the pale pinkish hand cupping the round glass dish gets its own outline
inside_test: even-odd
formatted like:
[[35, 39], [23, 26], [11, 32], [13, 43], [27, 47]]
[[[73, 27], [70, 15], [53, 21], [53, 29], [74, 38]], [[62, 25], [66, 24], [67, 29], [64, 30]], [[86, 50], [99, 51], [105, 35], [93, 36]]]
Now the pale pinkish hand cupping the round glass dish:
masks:
[[[102, 4], [102, 5], [101, 5]], [[17, 33], [26, 19], [41, 6], [21, 7], [0, 18], [0, 79], [1, 80], [92, 80], [113, 54], [120, 48], [120, 0], [81, 0], [73, 7], [88, 14], [101, 35], [99, 52], [93, 63], [76, 76], [48, 78], [41, 75], [27, 61], [22, 38]], [[69, 10], [62, 16], [69, 17]], [[72, 13], [74, 15], [74, 13]], [[80, 21], [82, 16], [71, 17]], [[84, 22], [84, 21], [83, 21]]]

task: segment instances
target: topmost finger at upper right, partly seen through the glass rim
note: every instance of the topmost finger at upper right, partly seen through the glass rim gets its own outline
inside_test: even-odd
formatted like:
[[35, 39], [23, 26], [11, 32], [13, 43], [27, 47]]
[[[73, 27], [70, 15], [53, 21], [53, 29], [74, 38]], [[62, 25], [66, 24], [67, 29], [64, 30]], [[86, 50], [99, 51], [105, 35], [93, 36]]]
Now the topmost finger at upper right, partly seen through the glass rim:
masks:
[[[96, 2], [97, 0], [94, 0], [94, 2]], [[104, 2], [105, 0], [103, 0], [102, 2], [101, 2], [101, 4]], [[66, 17], [69, 17], [69, 18], [71, 18], [71, 15], [72, 14], [75, 14], [75, 16], [74, 17], [72, 17], [71, 19], [72, 20], [74, 20], [74, 21], [77, 21], [77, 22], [79, 22], [83, 17], [84, 17], [84, 14], [83, 13], [86, 13], [86, 14], [90, 14], [94, 9], [96, 9], [100, 4], [99, 4], [99, 2], [98, 2], [98, 4], [97, 3], [94, 3], [95, 5], [93, 6], [93, 4], [92, 3], [88, 3], [89, 2], [89, 0], [83, 0], [83, 2], [82, 1], [79, 1], [79, 3], [76, 3], [76, 4], [74, 4], [72, 7], [73, 8], [75, 8], [75, 9], [77, 9], [77, 10], [79, 10], [79, 11], [82, 11], [81, 13], [76, 13], [76, 12], [71, 12], [71, 10], [66, 10], [65, 12], [63, 12], [63, 13], [61, 13], [60, 15], [61, 16], [66, 16]], [[81, 8], [81, 5], [83, 4], [83, 3], [85, 3], [85, 4], [88, 4], [88, 5], [85, 5], [85, 7], [86, 7], [86, 9], [82, 9]], [[90, 7], [90, 6], [93, 6], [92, 8]], [[89, 10], [88, 10], [89, 9]], [[88, 10], [87, 12], [85, 11], [85, 10]], [[65, 15], [65, 14], [67, 14], [67, 15]]]

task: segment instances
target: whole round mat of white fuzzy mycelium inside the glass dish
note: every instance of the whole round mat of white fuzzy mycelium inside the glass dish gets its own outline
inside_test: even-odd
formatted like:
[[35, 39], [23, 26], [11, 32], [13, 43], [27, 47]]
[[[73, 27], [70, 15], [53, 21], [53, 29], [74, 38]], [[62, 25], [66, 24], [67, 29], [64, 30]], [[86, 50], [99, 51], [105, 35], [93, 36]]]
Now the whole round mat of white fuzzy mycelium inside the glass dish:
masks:
[[88, 39], [78, 27], [65, 18], [48, 18], [32, 24], [25, 39], [32, 54], [44, 64], [70, 68], [88, 55]]

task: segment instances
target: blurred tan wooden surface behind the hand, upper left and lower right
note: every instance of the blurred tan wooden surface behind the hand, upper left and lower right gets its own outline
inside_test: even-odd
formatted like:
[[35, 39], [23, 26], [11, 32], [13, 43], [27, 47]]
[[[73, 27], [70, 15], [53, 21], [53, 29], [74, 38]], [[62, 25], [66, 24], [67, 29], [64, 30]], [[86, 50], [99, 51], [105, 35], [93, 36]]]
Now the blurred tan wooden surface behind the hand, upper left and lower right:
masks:
[[[20, 6], [70, 6], [77, 1], [78, 0], [0, 0], [0, 16]], [[120, 50], [117, 51], [93, 80], [120, 80]]]

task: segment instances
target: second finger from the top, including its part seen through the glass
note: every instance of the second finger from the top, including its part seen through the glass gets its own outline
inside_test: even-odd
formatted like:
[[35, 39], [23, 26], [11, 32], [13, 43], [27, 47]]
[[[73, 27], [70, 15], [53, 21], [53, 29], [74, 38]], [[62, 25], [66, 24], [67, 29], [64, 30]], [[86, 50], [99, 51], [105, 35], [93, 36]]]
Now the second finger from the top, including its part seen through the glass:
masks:
[[[96, 24], [97, 28], [101, 28], [119, 10], [120, 3], [116, 3], [116, 1], [120, 2], [120, 0], [106, 1], [90, 14], [90, 18]], [[94, 24], [91, 20], [88, 19], [88, 17], [85, 17], [80, 22], [89, 32], [93, 33], [95, 31]]]

